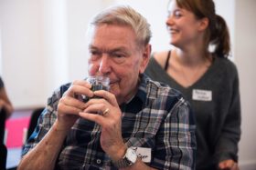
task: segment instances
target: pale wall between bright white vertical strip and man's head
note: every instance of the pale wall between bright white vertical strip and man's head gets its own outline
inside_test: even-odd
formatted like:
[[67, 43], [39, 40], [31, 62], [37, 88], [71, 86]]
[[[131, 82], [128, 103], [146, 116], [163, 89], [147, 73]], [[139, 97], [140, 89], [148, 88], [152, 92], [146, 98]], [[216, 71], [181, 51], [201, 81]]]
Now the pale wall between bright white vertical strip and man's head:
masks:
[[107, 5], [106, 0], [69, 0], [68, 35], [69, 35], [69, 80], [81, 79], [87, 74], [87, 54], [85, 32], [91, 17]]

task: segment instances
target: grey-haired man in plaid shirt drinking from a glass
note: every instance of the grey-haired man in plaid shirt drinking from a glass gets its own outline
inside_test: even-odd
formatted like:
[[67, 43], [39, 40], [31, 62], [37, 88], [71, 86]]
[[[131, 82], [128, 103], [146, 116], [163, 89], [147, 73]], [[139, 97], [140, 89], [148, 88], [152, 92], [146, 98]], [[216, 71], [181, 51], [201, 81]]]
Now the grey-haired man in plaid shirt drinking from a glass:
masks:
[[109, 91], [92, 91], [85, 80], [60, 86], [18, 169], [193, 169], [189, 105], [176, 90], [144, 75], [151, 53], [144, 17], [114, 6], [96, 15], [90, 35], [89, 75], [108, 77]]

